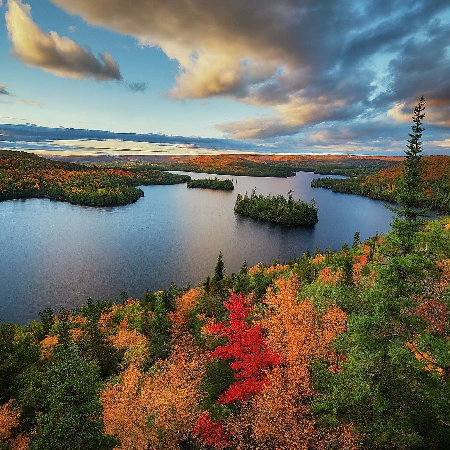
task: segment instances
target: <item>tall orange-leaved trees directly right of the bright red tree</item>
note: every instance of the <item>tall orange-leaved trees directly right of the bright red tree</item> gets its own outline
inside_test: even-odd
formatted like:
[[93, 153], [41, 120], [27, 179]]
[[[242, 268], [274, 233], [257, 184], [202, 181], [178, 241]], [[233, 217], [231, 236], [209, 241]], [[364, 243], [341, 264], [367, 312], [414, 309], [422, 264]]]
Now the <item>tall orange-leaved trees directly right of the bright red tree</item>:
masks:
[[[297, 299], [299, 286], [296, 275], [280, 276], [267, 289], [267, 309], [260, 323], [269, 347], [280, 354], [282, 362], [267, 374], [261, 392], [250, 404], [227, 421], [235, 439], [250, 438], [260, 449], [327, 448], [320, 442], [310, 412], [314, 395], [310, 367], [320, 359], [328, 370], [340, 369], [345, 358], [331, 344], [346, 329], [347, 315], [334, 306], [320, 320], [310, 299]], [[346, 426], [338, 434], [349, 429], [351, 426]], [[345, 448], [355, 448], [351, 433], [349, 436]]]

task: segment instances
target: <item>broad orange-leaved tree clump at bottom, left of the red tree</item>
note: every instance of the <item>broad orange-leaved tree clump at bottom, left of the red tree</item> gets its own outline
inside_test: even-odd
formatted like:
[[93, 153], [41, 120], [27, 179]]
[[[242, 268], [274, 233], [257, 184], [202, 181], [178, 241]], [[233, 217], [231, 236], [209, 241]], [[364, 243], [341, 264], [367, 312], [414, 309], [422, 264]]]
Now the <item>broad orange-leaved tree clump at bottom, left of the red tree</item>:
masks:
[[174, 346], [152, 374], [130, 367], [120, 383], [100, 392], [105, 432], [121, 440], [120, 450], [175, 450], [197, 418], [205, 374], [204, 355], [189, 337]]

